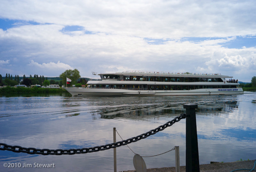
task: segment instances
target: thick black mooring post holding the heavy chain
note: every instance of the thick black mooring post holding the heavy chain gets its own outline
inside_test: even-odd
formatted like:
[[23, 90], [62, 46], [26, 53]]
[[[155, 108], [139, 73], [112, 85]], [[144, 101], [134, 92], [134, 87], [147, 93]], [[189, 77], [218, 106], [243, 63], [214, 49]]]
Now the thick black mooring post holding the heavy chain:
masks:
[[186, 109], [186, 172], [200, 172], [197, 143], [197, 104], [184, 104]]

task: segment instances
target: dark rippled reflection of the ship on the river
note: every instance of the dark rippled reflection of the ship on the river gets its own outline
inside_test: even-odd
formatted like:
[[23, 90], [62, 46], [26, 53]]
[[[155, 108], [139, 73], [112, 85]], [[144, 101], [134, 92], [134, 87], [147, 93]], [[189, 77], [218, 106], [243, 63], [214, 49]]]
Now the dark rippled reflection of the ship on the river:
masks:
[[[231, 112], [237, 109], [236, 100], [215, 101], [211, 103], [199, 103], [197, 112], [200, 115], [220, 115], [224, 112]], [[126, 119], [155, 119], [160, 117], [175, 117], [176, 115], [186, 113], [183, 108], [183, 104], [177, 106], [160, 105], [155, 107], [144, 107], [136, 109], [104, 109], [99, 112], [101, 118], [113, 119], [113, 118], [126, 118]], [[198, 114], [199, 115], [199, 114]]]

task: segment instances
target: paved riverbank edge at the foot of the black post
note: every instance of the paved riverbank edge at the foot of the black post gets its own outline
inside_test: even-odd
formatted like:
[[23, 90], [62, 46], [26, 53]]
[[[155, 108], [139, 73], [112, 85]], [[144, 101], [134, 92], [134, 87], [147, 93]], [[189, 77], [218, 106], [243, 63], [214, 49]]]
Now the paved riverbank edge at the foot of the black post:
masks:
[[[200, 172], [231, 172], [238, 169], [253, 169], [256, 160], [224, 162], [200, 165]], [[135, 170], [123, 171], [135, 172]], [[147, 172], [175, 172], [175, 167], [150, 168]], [[180, 167], [180, 172], [186, 172], [186, 166]], [[248, 170], [240, 170], [239, 172], [248, 172]]]

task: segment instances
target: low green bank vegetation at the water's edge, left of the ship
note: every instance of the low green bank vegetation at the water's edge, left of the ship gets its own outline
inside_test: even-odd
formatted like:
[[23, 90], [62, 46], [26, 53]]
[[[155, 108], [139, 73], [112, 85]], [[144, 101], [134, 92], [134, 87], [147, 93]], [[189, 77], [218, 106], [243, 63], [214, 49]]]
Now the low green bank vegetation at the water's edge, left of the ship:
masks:
[[0, 89], [0, 94], [12, 93], [68, 93], [65, 89], [49, 89], [49, 88], [25, 88], [25, 87], [4, 87]]

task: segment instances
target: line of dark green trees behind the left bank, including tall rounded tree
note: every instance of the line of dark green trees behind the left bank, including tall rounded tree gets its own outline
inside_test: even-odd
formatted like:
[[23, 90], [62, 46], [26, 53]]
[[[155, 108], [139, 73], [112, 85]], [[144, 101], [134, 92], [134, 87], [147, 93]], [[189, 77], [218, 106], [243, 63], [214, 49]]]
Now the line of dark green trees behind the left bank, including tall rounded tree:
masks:
[[66, 70], [64, 73], [61, 73], [59, 75], [59, 78], [62, 79], [60, 81], [55, 81], [53, 79], [48, 80], [47, 77], [44, 76], [38, 76], [36, 74], [34, 74], [34, 76], [32, 77], [32, 75], [30, 75], [29, 77], [26, 77], [25, 75], [23, 75], [22, 77], [20, 77], [19, 75], [15, 75], [15, 77], [13, 77], [12, 75], [10, 75], [10, 73], [6, 73], [5, 77], [2, 77], [2, 75], [0, 74], [0, 86], [15, 86], [15, 85], [26, 85], [26, 86], [30, 86], [30, 85], [41, 85], [41, 86], [47, 86], [50, 84], [57, 84], [60, 87], [62, 85], [66, 85], [67, 80], [66, 78], [71, 79], [72, 81], [69, 82], [68, 86], [72, 86], [73, 84], [77, 84], [80, 83], [80, 85], [85, 85], [87, 83], [85, 78], [80, 78], [80, 72], [77, 69], [74, 70]]

